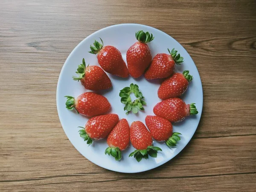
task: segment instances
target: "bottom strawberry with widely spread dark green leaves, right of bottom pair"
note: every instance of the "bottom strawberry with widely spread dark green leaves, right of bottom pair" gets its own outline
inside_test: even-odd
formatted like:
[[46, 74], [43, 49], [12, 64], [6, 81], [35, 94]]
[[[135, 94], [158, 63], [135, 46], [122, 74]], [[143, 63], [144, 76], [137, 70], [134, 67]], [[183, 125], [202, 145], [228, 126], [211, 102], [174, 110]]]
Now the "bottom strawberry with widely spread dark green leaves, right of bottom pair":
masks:
[[152, 146], [153, 140], [151, 134], [143, 122], [134, 121], [131, 124], [130, 140], [131, 144], [137, 150], [132, 152], [129, 157], [134, 156], [138, 162], [143, 158], [148, 159], [148, 154], [151, 157], [157, 157], [157, 151], [162, 151], [161, 148]]

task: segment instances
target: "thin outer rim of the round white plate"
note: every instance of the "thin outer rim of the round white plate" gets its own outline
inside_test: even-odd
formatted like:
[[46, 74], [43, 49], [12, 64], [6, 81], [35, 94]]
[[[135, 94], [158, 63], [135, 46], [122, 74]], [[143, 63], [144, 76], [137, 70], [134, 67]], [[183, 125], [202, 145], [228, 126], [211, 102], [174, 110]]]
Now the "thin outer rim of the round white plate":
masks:
[[[151, 28], [151, 29], [157, 30], [157, 31], [159, 31], [159, 32], [162, 32], [162, 33], [168, 35], [166, 32], [163, 32], [163, 31], [161, 31], [160, 29], [154, 28], [154, 27], [152, 27], [152, 26], [143, 25], [143, 24], [138, 24], [138, 23], [121, 23], [121, 24], [115, 24], [115, 25], [111, 25], [111, 26], [107, 26], [107, 27], [104, 27], [104, 28], [102, 28], [102, 29], [99, 29], [99, 30], [93, 32], [92, 34], [88, 35], [86, 38], [84, 38], [79, 44], [76, 45], [76, 47], [75, 47], [75, 48], [70, 52], [70, 54], [67, 56], [67, 58], [66, 58], [66, 60], [65, 60], [65, 62], [64, 62], [64, 64], [63, 64], [63, 66], [62, 66], [62, 68], [61, 68], [61, 72], [60, 72], [60, 74], [59, 74], [59, 77], [58, 77], [58, 83], [57, 83], [57, 87], [56, 87], [56, 108], [57, 108], [57, 113], [58, 113], [58, 118], [59, 118], [60, 123], [61, 123], [61, 117], [60, 117], [60, 115], [59, 115], [59, 110], [60, 110], [60, 109], [58, 108], [58, 97], [59, 97], [59, 94], [58, 94], [58, 93], [59, 93], [60, 91], [58, 91], [58, 90], [60, 89], [60, 85], [59, 85], [59, 84], [60, 84], [60, 79], [61, 79], [61, 76], [62, 76], [62, 74], [63, 74], [64, 67], [67, 65], [67, 60], [71, 57], [71, 55], [73, 55], [73, 53], [74, 53], [74, 52], [76, 51], [76, 49], [80, 46], [80, 44], [82, 44], [84, 41], [86, 41], [88, 38], [90, 38], [90, 36], [93, 36], [93, 34], [95, 34], [96, 32], [100, 32], [100, 31], [105, 30], [105, 29], [107, 29], [107, 28], [112, 28], [112, 27], [116, 27], [116, 26], [129, 26], [129, 25], [131, 25], [131, 26], [134, 26], [134, 25], [135, 25], [135, 26], [149, 27], [149, 28]], [[170, 38], [172, 38], [174, 41], [177, 41], [177, 40], [176, 40], [175, 38], [173, 38], [172, 36], [170, 36], [170, 35], [168, 35], [168, 36], [169, 36]], [[177, 41], [177, 43], [180, 44], [178, 41]], [[181, 44], [180, 44], [180, 45], [181, 45]], [[181, 46], [182, 46], [182, 45], [181, 45]], [[183, 47], [183, 46], [182, 46], [182, 47]], [[184, 47], [183, 47], [183, 48], [184, 48]], [[187, 50], [186, 50], [185, 48], [184, 48], [184, 50], [187, 52]], [[191, 55], [189, 54], [189, 52], [187, 52], [187, 54], [190, 56], [190, 58], [192, 59], [193, 63], [195, 64], [195, 62], [194, 62], [193, 58], [191, 57]], [[200, 81], [200, 83], [201, 83], [201, 88], [202, 88], [202, 94], [201, 94], [202, 106], [201, 106], [201, 109], [199, 109], [199, 110], [201, 111], [201, 113], [200, 113], [199, 120], [198, 120], [198, 123], [197, 123], [196, 128], [195, 128], [195, 131], [196, 131], [197, 128], [198, 128], [199, 122], [201, 121], [201, 115], [202, 115], [202, 113], [203, 113], [202, 110], [203, 110], [203, 105], [204, 105], [204, 92], [203, 92], [203, 85], [202, 85], [202, 81], [201, 81], [201, 76], [200, 76], [200, 74], [199, 74], [199, 71], [198, 71], [198, 68], [197, 68], [196, 64], [195, 64], [195, 68], [196, 68], [196, 70], [197, 70], [197, 72], [198, 72], [199, 81]], [[62, 123], [61, 123], [61, 127], [62, 127], [62, 129], [64, 130], [64, 133], [65, 133], [66, 136], [67, 136], [67, 133], [66, 133], [66, 131], [65, 131], [65, 129], [64, 129], [63, 125], [62, 125]], [[183, 151], [183, 149], [189, 144], [189, 142], [191, 141], [192, 137], [193, 137], [194, 134], [195, 134], [195, 131], [193, 132], [192, 136], [191, 136], [190, 138], [188, 138], [188, 142], [187, 142], [186, 145], [180, 150], [180, 152]], [[73, 145], [73, 147], [76, 148], [75, 145], [74, 145], [73, 142], [69, 139], [68, 136], [67, 136], [67, 138], [68, 138], [68, 140], [70, 141], [70, 143]], [[79, 149], [76, 148], [76, 150], [79, 151], [79, 153], [84, 157], [84, 155], [81, 153], [81, 151], [80, 151]], [[180, 152], [178, 152], [177, 154], [180, 154]], [[177, 156], [177, 154], [175, 154], [171, 159], [165, 159], [165, 160], [163, 160], [161, 163], [156, 164], [156, 166], [155, 166], [154, 168], [146, 168], [146, 169], [143, 169], [143, 170], [140, 170], [140, 171], [137, 171], [137, 172], [117, 171], [117, 170], [114, 170], [114, 169], [112, 169], [112, 168], [107, 168], [106, 166], [99, 165], [98, 163], [94, 163], [92, 160], [90, 160], [90, 159], [91, 159], [90, 156], [89, 156], [89, 158], [87, 158], [87, 157], [84, 157], [84, 158], [86, 158], [86, 159], [89, 160], [91, 163], [93, 163], [93, 164], [95, 164], [95, 165], [97, 165], [97, 166], [99, 166], [99, 167], [102, 167], [102, 168], [104, 168], [104, 169], [111, 170], [111, 171], [114, 171], [114, 172], [121, 172], [121, 173], [139, 173], [139, 172], [145, 172], [145, 171], [148, 171], [148, 170], [151, 170], [151, 169], [155, 169], [155, 168], [157, 168], [157, 167], [159, 167], [159, 166], [162, 166], [163, 164], [165, 164], [165, 163], [167, 163], [168, 161], [170, 161], [170, 160], [172, 160], [173, 158], [175, 158], [175, 157]]]

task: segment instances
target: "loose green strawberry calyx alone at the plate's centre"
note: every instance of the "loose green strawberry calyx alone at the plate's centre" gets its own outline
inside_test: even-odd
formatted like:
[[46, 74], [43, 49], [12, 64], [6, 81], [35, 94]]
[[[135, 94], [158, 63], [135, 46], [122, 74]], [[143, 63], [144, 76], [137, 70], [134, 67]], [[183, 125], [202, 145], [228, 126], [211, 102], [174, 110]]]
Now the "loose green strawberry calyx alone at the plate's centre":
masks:
[[[130, 94], [134, 93], [137, 99], [134, 101], [131, 100]], [[138, 111], [145, 111], [143, 105], [147, 103], [144, 101], [145, 97], [139, 90], [139, 86], [137, 84], [130, 84], [130, 87], [125, 87], [120, 90], [119, 96], [121, 97], [121, 102], [125, 104], [124, 111], [127, 111], [126, 114], [130, 113], [138, 113]]]

